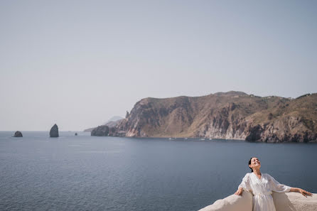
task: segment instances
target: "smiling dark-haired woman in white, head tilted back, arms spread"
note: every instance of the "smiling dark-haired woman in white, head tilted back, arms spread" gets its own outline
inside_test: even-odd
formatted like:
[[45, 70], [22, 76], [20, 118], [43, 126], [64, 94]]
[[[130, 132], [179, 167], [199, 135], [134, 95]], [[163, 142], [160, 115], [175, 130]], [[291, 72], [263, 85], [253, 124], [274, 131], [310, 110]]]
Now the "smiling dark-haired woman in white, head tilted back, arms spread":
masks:
[[258, 158], [251, 158], [249, 160], [249, 168], [251, 173], [247, 173], [242, 179], [242, 183], [235, 195], [242, 195], [243, 190], [252, 191], [253, 194], [253, 211], [275, 211], [272, 191], [278, 193], [299, 192], [303, 196], [312, 195], [311, 193], [301, 188], [291, 188], [286, 185], [281, 185], [271, 175], [261, 173], [261, 163]]

